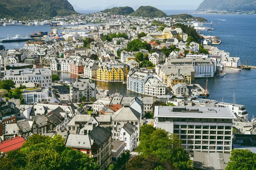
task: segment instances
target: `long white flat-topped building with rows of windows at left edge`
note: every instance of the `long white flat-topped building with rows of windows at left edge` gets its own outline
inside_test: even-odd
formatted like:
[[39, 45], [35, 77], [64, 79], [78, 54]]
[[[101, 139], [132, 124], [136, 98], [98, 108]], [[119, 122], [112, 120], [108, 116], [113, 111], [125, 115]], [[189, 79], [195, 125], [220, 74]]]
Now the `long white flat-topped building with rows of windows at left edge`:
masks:
[[42, 88], [52, 87], [52, 71], [48, 68], [10, 69], [5, 71], [4, 79], [12, 79], [16, 85], [32, 82]]

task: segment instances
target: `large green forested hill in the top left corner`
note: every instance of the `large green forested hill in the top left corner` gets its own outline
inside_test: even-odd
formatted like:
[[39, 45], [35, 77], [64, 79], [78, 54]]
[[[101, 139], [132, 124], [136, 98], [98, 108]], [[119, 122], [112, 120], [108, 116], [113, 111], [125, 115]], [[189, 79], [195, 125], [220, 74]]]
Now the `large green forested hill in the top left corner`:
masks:
[[0, 18], [28, 20], [76, 13], [67, 0], [0, 0]]

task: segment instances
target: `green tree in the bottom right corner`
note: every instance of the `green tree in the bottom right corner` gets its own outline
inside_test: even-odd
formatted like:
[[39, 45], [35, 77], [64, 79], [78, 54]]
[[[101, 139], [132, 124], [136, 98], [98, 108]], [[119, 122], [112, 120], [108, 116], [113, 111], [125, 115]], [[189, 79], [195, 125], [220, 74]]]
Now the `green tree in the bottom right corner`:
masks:
[[248, 149], [232, 150], [226, 170], [256, 170], [256, 153]]

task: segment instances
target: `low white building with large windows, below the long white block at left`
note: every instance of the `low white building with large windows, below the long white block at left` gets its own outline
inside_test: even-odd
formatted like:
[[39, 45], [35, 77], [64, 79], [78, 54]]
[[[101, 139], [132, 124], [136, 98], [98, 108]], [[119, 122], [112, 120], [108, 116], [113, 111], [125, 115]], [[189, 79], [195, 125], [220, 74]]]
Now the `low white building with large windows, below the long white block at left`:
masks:
[[28, 105], [37, 102], [60, 103], [55, 94], [52, 93], [49, 88], [45, 88], [44, 90], [39, 89], [31, 91], [23, 89], [22, 98], [24, 99], [24, 104]]

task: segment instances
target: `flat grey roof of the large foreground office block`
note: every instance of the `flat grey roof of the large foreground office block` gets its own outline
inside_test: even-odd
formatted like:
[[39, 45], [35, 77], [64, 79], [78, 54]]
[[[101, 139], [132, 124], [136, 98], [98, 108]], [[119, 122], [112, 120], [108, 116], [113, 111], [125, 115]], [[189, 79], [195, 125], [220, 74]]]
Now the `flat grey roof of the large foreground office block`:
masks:
[[236, 119], [230, 108], [155, 106], [154, 117]]

